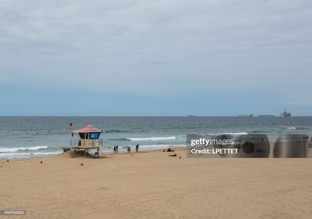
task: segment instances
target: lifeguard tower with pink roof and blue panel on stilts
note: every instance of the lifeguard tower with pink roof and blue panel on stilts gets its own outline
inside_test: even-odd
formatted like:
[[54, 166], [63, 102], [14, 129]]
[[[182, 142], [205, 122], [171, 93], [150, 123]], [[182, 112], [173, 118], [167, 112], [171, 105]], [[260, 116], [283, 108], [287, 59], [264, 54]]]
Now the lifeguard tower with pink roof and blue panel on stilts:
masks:
[[[98, 128], [94, 128], [92, 125], [87, 125], [85, 128], [80, 128], [78, 130], [73, 131], [73, 133], [78, 133], [80, 136], [80, 140], [72, 140], [71, 139], [71, 147], [73, 148], [73, 152], [71, 154], [72, 157], [79, 157], [82, 153], [86, 151], [92, 153], [93, 155], [99, 155], [100, 148], [103, 148], [103, 139], [100, 139], [100, 134], [105, 131], [100, 130]], [[84, 149], [84, 150], [79, 150]], [[90, 151], [90, 149], [97, 149], [95, 154]], [[103, 154], [103, 152], [101, 151]], [[104, 155], [104, 154], [103, 154]], [[104, 157], [106, 157], [104, 155]]]

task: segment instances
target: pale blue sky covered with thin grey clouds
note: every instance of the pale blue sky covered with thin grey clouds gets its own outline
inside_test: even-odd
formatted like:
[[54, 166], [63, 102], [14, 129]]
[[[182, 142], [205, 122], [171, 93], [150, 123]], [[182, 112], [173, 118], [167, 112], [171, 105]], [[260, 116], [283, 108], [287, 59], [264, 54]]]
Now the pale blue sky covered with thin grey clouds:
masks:
[[0, 0], [0, 116], [312, 115], [312, 2]]

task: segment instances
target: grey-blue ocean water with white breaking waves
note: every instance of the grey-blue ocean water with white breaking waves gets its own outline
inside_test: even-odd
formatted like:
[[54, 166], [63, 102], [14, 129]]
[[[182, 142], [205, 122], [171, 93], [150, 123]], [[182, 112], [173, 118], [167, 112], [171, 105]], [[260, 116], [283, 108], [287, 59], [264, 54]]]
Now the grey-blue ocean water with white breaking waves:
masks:
[[[104, 130], [102, 152], [186, 146], [187, 134], [280, 134], [312, 136], [312, 117], [199, 117], [199, 116], [2, 116], [0, 117], [0, 160], [54, 156], [79, 139], [73, 130], [91, 124]], [[309, 137], [310, 139], [310, 137]]]

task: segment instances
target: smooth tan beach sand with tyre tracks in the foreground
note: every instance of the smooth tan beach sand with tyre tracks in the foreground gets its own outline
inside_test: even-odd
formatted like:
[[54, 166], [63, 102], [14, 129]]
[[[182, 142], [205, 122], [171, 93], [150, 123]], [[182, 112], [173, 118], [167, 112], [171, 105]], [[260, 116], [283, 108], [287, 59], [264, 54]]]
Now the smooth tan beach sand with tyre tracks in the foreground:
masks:
[[0, 210], [27, 212], [0, 218], [312, 218], [312, 159], [184, 149], [0, 162]]

